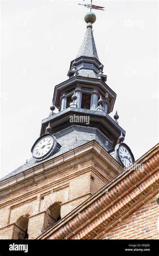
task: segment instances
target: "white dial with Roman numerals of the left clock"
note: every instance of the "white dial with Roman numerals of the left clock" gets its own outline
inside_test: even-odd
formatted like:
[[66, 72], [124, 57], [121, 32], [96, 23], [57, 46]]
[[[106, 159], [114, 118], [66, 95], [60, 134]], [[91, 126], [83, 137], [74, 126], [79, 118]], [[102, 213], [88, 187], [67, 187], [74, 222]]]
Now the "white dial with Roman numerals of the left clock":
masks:
[[33, 154], [36, 158], [42, 158], [52, 149], [53, 138], [51, 136], [46, 136], [39, 140], [34, 147]]

